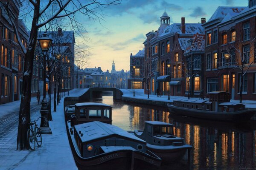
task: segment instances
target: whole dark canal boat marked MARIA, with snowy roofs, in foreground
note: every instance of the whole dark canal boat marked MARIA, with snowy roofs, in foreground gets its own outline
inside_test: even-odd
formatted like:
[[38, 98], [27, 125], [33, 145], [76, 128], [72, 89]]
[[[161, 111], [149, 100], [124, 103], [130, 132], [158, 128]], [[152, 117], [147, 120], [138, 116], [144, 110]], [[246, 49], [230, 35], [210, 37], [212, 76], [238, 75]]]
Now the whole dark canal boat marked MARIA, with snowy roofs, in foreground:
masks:
[[145, 141], [111, 125], [111, 108], [102, 103], [75, 104], [75, 114], [67, 121], [67, 130], [79, 169], [135, 170], [159, 167], [162, 160], [147, 150]]

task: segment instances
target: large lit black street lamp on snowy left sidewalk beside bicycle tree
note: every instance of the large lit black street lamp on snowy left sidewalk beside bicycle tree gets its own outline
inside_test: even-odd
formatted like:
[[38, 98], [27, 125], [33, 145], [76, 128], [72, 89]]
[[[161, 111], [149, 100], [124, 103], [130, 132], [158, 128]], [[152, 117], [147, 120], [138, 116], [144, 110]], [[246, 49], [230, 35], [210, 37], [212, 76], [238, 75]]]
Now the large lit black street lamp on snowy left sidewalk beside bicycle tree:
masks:
[[38, 42], [39, 45], [41, 47], [41, 50], [43, 52], [44, 55], [44, 97], [43, 97], [43, 101], [41, 102], [42, 107], [41, 107], [41, 116], [44, 117], [43, 119], [41, 119], [41, 124], [40, 124], [40, 132], [42, 134], [52, 134], [52, 130], [49, 127], [49, 122], [48, 122], [48, 102], [46, 99], [46, 53], [49, 50], [50, 46], [52, 45], [52, 39], [50, 39], [49, 37], [47, 37], [47, 34], [44, 33], [43, 37], [38, 38]]

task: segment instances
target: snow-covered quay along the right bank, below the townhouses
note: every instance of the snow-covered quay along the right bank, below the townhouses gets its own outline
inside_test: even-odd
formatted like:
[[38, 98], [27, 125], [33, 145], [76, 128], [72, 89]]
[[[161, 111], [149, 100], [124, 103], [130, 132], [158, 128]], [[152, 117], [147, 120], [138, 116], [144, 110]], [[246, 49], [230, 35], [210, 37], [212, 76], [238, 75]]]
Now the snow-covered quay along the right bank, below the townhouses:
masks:
[[[163, 101], [163, 102], [173, 102], [173, 100], [177, 99], [188, 99], [184, 96], [170, 96], [170, 100], [168, 100], [168, 96], [164, 95], [161, 97], [157, 97], [157, 95], [150, 94], [148, 99], [148, 94], [144, 94], [143, 89], [135, 89], [135, 97], [133, 96], [133, 89], [120, 89], [123, 92], [124, 97], [136, 98], [136, 99], [145, 99], [152, 101]], [[190, 97], [190, 99], [200, 100], [198, 97]], [[230, 102], [239, 103], [239, 100], [230, 100]], [[243, 100], [242, 103], [246, 108], [256, 108], [256, 100]]]

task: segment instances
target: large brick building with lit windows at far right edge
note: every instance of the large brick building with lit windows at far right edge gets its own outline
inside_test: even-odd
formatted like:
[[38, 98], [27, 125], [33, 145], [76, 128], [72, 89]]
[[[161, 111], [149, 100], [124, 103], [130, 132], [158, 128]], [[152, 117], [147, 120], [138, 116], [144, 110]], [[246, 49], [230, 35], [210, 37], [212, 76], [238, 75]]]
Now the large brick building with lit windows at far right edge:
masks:
[[248, 2], [247, 7], [218, 7], [203, 25], [207, 92], [228, 91], [239, 99], [242, 85], [243, 99], [256, 99], [256, 4]]

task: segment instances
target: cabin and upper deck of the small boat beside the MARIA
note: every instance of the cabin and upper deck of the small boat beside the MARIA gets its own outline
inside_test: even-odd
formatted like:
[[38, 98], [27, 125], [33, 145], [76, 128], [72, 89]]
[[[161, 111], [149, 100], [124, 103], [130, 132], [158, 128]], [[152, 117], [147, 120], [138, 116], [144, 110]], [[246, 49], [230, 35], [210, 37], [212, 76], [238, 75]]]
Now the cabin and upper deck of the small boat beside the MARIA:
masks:
[[[136, 136], [138, 132], [135, 131]], [[139, 136], [138, 136], [139, 137]], [[173, 125], [166, 122], [147, 121], [140, 139], [145, 140], [148, 144], [154, 145], [176, 145], [184, 144], [183, 139], [174, 136]], [[175, 141], [177, 139], [177, 141]]]

